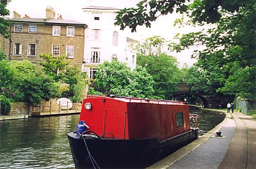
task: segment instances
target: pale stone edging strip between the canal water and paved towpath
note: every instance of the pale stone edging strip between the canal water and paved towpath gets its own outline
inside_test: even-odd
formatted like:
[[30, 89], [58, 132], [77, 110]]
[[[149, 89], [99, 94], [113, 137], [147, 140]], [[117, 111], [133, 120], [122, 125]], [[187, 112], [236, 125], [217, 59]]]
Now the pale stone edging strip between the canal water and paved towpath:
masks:
[[165, 169], [165, 168], [168, 168], [169, 166], [173, 165], [175, 162], [182, 159], [184, 156], [188, 155], [190, 152], [194, 151], [196, 148], [198, 148], [200, 145], [205, 143], [207, 140], [209, 140], [209, 138], [214, 136], [216, 131], [220, 131], [220, 129], [223, 126], [225, 126], [228, 123], [228, 121], [230, 121], [230, 120], [234, 121], [232, 116], [230, 114], [226, 114], [226, 112], [223, 111], [223, 110], [208, 109], [208, 108], [204, 108], [204, 110], [224, 113], [226, 117], [222, 122], [220, 122], [220, 124], [218, 124], [217, 126], [215, 126], [215, 128], [213, 128], [210, 131], [208, 131], [207, 133], [205, 133], [203, 136], [200, 136], [195, 141], [193, 141], [193, 142], [189, 143], [188, 145], [180, 148], [178, 151], [173, 152], [172, 154], [170, 154], [170, 156], [167, 156], [166, 158], [161, 159], [160, 161], [157, 161], [153, 165], [148, 166], [147, 169], [160, 169], [160, 168]]

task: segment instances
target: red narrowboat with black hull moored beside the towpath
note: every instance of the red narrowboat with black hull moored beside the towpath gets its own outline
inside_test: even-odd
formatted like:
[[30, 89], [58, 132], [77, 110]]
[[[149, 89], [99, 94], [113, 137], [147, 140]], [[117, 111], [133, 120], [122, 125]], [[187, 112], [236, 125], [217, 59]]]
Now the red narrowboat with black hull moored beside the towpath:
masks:
[[67, 136], [76, 168], [145, 168], [196, 140], [197, 130], [183, 102], [88, 96]]

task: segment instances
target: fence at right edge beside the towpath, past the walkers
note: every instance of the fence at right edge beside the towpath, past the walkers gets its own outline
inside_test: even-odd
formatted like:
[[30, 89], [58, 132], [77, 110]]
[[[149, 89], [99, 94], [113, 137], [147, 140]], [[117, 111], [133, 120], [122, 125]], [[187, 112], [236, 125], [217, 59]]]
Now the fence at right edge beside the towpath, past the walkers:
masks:
[[236, 99], [236, 109], [241, 110], [244, 114], [256, 114], [256, 100]]

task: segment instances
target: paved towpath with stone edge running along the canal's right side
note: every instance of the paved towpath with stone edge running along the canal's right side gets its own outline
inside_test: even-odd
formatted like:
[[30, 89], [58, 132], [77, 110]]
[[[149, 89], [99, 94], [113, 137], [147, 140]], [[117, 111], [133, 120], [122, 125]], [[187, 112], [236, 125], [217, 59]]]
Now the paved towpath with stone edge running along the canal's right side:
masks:
[[256, 121], [238, 112], [227, 114], [204, 136], [147, 169], [153, 168], [256, 169]]

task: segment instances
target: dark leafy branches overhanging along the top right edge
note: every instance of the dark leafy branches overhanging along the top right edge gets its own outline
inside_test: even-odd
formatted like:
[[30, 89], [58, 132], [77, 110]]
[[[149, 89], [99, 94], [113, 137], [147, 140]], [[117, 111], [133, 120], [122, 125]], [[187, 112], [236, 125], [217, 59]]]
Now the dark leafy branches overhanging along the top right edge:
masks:
[[[215, 0], [143, 0], [136, 4], [136, 8], [124, 8], [118, 11], [115, 24], [124, 30], [125, 27], [136, 31], [137, 26], [151, 26], [160, 15], [169, 13], [191, 13], [193, 23], [216, 23], [223, 15], [223, 11], [230, 14], [239, 13], [243, 6], [252, 6], [255, 0], [234, 0], [234, 1], [215, 1]], [[252, 20], [255, 14], [252, 15]]]

